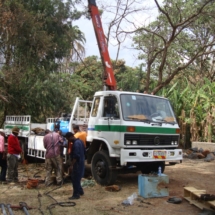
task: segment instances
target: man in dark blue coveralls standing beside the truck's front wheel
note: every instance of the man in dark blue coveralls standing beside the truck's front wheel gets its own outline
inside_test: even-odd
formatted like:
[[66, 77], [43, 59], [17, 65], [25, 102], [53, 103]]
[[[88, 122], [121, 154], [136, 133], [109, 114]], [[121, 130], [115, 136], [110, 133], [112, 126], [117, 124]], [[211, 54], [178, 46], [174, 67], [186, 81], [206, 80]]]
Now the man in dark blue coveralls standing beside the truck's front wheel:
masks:
[[73, 195], [69, 199], [79, 199], [80, 195], [84, 195], [84, 191], [81, 187], [81, 178], [84, 172], [85, 147], [83, 142], [75, 138], [72, 132], [66, 133], [66, 139], [73, 143], [72, 151], [70, 153], [71, 163], [69, 167], [71, 172]]

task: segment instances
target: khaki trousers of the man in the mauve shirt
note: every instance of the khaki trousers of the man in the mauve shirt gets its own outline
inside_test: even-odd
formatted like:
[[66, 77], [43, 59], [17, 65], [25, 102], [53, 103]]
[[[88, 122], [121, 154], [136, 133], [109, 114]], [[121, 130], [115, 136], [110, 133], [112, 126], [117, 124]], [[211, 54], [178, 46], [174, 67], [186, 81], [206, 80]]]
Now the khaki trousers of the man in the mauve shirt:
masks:
[[53, 158], [46, 158], [45, 166], [46, 166], [45, 185], [49, 186], [50, 184], [53, 183], [52, 178], [51, 178], [53, 169], [55, 170], [57, 183], [60, 184], [63, 180], [63, 177], [62, 177], [62, 158], [60, 157], [60, 155], [53, 157]]

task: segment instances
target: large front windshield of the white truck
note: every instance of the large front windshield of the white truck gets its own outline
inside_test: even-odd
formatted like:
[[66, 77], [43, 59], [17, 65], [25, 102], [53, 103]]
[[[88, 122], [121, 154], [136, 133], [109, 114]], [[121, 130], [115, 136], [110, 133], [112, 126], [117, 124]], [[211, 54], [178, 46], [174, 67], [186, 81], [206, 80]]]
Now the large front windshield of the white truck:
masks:
[[175, 124], [176, 119], [167, 99], [147, 95], [121, 95], [124, 120]]

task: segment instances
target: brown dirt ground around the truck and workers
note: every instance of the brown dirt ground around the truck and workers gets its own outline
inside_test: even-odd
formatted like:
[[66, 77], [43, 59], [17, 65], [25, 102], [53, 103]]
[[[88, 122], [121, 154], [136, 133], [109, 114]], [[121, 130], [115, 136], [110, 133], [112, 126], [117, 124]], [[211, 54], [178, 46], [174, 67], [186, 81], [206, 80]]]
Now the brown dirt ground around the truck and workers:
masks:
[[[92, 187], [85, 187], [85, 194], [73, 202], [75, 206], [61, 207], [59, 205], [48, 209], [58, 202], [68, 202], [72, 194], [71, 183], [62, 187], [51, 186], [46, 188], [44, 179], [44, 164], [19, 165], [18, 184], [1, 184], [0, 203], [18, 205], [19, 202], [26, 202], [28, 206], [35, 207], [29, 210], [29, 214], [53, 214], [53, 215], [198, 215], [201, 210], [183, 199], [181, 204], [168, 203], [172, 196], [183, 197], [185, 186], [204, 189], [207, 193], [215, 194], [215, 161], [204, 162], [204, 160], [184, 159], [182, 164], [166, 166], [165, 174], [169, 177], [169, 196], [160, 198], [138, 197], [133, 205], [122, 205], [123, 200], [133, 193], [138, 194], [138, 174], [119, 175], [116, 185], [121, 187], [119, 192], [109, 192], [98, 184]], [[39, 177], [41, 180], [37, 189], [27, 189], [26, 180], [28, 177]], [[55, 189], [55, 190], [54, 190]], [[51, 191], [46, 194], [47, 192]], [[53, 199], [54, 198], [54, 199]], [[56, 200], [56, 201], [55, 201]], [[14, 215], [24, 214], [24, 211], [13, 210]], [[9, 214], [9, 213], [8, 213]]]

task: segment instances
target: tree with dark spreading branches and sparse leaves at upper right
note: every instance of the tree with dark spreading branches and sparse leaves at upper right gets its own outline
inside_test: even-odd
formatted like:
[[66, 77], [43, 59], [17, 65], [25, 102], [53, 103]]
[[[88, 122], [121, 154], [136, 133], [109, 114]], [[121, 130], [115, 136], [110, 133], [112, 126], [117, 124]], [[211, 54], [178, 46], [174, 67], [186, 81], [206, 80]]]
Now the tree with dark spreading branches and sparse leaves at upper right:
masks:
[[[214, 1], [155, 0], [159, 15], [146, 27], [140, 27], [134, 45], [140, 50], [146, 70], [146, 90], [151, 79], [157, 93], [173, 78], [197, 66], [204, 66], [214, 54]], [[202, 59], [201, 59], [202, 58]]]

